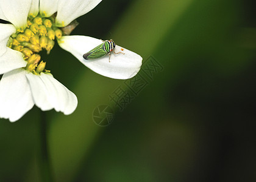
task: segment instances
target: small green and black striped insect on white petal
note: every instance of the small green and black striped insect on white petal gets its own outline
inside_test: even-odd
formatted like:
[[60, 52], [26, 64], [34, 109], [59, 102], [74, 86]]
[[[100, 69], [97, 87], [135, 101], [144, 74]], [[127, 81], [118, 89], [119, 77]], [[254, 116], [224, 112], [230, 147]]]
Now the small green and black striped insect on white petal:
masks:
[[[116, 47], [116, 44], [112, 39], [110, 39], [110, 41], [103, 41], [102, 44], [99, 44], [94, 49], [85, 53], [83, 55], [83, 58], [87, 60], [91, 60], [91, 59], [102, 58], [103, 56], [108, 54], [109, 55], [108, 61], [110, 62], [110, 53], [111, 52], [115, 53], [114, 51], [115, 47]], [[119, 54], [119, 53], [123, 53], [123, 52], [118, 52], [115, 54]]]

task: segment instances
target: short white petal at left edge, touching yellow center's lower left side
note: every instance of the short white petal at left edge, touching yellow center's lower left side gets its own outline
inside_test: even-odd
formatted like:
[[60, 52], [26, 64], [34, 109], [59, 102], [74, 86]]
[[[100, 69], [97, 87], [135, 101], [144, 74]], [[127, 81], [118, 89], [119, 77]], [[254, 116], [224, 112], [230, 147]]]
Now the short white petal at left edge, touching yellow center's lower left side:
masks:
[[23, 53], [7, 47], [4, 55], [0, 56], [0, 75], [3, 73], [25, 67], [27, 62], [23, 59]]

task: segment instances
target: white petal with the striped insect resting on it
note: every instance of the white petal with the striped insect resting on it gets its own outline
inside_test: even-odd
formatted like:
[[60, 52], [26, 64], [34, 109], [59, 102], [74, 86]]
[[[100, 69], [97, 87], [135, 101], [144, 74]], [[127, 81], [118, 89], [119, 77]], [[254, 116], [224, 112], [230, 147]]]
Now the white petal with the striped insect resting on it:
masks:
[[89, 52], [99, 44], [102, 44], [100, 39], [89, 36], [63, 36], [59, 41], [62, 49], [72, 53], [85, 66], [100, 75], [115, 79], [128, 79], [138, 73], [142, 62], [141, 56], [127, 49], [122, 51], [123, 48], [118, 45], [114, 49], [115, 52], [123, 52], [124, 55], [111, 53], [110, 62], [108, 62], [108, 55], [98, 59], [85, 60], [83, 58], [84, 53]]

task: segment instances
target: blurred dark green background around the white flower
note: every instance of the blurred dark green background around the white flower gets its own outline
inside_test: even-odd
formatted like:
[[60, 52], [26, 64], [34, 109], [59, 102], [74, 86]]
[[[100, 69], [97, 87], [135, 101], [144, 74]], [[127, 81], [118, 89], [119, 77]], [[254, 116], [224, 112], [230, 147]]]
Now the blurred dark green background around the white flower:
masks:
[[255, 2], [104, 0], [72, 35], [114, 39], [163, 66], [107, 127], [93, 110], [122, 80], [55, 45], [47, 61], [79, 104], [0, 122], [0, 181], [41, 181], [40, 120], [54, 181], [256, 181]]

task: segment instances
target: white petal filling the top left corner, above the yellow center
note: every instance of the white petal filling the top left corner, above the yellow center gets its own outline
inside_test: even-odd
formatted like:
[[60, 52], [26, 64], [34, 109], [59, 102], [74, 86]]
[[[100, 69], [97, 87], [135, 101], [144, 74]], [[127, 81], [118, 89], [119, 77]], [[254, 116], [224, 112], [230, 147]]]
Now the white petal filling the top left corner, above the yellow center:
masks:
[[0, 7], [5, 18], [12, 22], [17, 29], [26, 28], [32, 0], [1, 0]]

